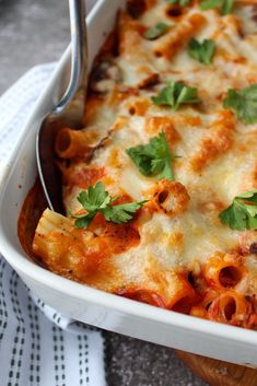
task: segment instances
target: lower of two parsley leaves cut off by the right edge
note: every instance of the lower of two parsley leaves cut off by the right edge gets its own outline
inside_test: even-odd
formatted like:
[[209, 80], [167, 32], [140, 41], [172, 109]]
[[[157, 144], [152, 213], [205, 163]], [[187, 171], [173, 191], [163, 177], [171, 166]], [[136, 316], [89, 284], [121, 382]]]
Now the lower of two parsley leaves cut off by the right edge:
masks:
[[236, 196], [232, 204], [219, 214], [219, 218], [232, 230], [257, 230], [257, 190]]

